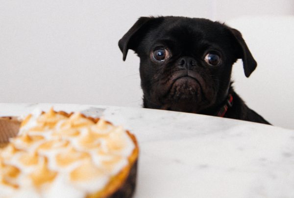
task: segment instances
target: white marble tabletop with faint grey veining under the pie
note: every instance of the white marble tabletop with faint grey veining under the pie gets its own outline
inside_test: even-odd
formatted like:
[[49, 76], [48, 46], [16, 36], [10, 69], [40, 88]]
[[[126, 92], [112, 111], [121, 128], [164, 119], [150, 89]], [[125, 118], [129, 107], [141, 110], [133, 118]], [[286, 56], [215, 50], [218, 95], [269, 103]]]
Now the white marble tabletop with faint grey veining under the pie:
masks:
[[139, 108], [0, 103], [0, 116], [35, 108], [81, 111], [138, 139], [135, 198], [294, 198], [294, 131], [233, 119]]

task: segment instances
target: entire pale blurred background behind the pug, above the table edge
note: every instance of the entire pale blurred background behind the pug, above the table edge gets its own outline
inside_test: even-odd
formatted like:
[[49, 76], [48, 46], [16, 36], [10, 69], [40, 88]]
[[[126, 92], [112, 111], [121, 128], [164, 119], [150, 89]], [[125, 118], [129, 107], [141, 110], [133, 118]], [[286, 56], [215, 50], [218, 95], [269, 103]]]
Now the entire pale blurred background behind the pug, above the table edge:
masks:
[[237, 93], [294, 129], [294, 0], [0, 0], [0, 102], [141, 107], [139, 58], [118, 41], [140, 16], [208, 18], [239, 29], [258, 62]]

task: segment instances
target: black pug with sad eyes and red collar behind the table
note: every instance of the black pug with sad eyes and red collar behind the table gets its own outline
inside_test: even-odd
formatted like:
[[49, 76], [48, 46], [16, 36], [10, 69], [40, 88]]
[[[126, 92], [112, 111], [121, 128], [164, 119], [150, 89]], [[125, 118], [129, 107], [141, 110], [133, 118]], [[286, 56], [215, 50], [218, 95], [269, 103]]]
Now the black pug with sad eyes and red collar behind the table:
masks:
[[257, 66], [241, 33], [219, 22], [187, 17], [141, 17], [119, 41], [140, 57], [145, 108], [215, 115], [270, 124], [235, 93], [232, 65], [245, 76]]

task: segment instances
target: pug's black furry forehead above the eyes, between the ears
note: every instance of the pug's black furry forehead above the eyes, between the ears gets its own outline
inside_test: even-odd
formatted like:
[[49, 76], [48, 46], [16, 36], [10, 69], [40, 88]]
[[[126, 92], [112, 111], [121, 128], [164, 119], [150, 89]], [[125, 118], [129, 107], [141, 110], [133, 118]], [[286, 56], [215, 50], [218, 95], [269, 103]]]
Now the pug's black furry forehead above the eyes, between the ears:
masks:
[[166, 18], [147, 33], [145, 40], [148, 40], [149, 48], [162, 44], [187, 51], [212, 45], [226, 48], [230, 43], [229, 35], [220, 23], [190, 18]]

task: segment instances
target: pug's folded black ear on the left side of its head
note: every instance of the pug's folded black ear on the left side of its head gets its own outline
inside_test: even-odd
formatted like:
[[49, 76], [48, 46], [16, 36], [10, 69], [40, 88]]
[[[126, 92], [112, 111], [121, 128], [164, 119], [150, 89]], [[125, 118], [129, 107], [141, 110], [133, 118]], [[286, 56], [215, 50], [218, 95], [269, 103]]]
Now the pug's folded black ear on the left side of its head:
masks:
[[[128, 49], [135, 50], [139, 44], [142, 34], [145, 34], [148, 22], [154, 17], [140, 17], [138, 21], [123, 35], [119, 41], [119, 47], [123, 53], [123, 61], [126, 58]], [[144, 31], [145, 30], [145, 31]]]

